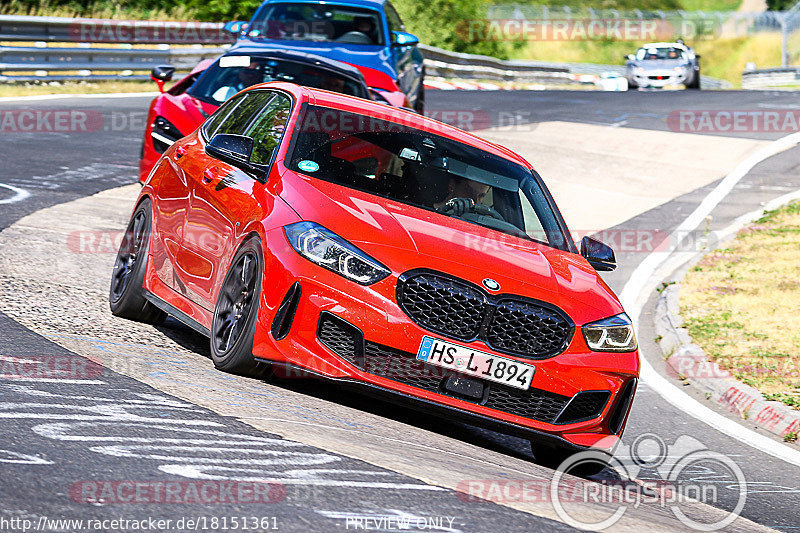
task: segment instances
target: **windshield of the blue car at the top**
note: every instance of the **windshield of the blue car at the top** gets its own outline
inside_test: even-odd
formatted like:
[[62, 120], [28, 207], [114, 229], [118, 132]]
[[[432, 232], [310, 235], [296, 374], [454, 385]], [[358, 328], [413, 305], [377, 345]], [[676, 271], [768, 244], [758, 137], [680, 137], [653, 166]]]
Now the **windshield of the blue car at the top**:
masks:
[[270, 3], [260, 9], [247, 34], [288, 41], [383, 45], [377, 11], [325, 4]]

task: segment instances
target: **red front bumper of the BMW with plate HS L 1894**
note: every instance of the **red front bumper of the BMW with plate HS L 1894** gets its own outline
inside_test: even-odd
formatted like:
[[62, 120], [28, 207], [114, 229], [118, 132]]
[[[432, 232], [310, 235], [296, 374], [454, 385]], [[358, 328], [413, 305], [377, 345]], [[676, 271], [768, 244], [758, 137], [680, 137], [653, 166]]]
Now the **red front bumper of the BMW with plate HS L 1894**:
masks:
[[[264, 252], [269, 275], [253, 353], [284, 368], [279, 375], [336, 380], [426, 414], [561, 447], [610, 450], [621, 435], [635, 393], [638, 352], [591, 352], [578, 332], [566, 351], [549, 359], [498, 353], [536, 367], [529, 391], [483, 382], [480, 397], [463, 396], [445, 387], [449, 371], [416, 360], [423, 336], [447, 337], [423, 329], [400, 309], [396, 276], [368, 287], [349, 282], [298, 255], [282, 228], [268, 233]], [[331, 321], [341, 326], [338, 332], [327, 326]], [[482, 341], [460, 344], [497, 353]]]

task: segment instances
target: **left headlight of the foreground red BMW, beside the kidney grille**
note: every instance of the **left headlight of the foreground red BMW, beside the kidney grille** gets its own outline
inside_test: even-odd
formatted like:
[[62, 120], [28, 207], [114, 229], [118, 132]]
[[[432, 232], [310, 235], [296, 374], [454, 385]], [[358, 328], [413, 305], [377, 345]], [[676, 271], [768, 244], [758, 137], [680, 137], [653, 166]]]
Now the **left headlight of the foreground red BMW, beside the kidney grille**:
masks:
[[378, 261], [319, 224], [297, 222], [283, 229], [297, 253], [351, 281], [372, 285], [391, 274]]

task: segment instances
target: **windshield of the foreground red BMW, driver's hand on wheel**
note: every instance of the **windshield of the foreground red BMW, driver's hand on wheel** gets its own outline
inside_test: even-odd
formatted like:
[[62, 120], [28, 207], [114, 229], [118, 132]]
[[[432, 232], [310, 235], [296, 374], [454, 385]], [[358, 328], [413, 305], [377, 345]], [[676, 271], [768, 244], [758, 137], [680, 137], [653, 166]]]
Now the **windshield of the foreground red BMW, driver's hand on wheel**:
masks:
[[441, 216], [568, 250], [530, 170], [411, 126], [308, 106], [287, 166]]

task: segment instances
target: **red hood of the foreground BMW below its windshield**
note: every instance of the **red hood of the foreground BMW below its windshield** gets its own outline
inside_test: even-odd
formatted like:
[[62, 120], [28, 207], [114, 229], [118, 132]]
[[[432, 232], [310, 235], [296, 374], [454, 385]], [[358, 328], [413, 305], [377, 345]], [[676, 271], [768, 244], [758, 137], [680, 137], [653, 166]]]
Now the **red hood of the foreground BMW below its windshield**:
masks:
[[427, 268], [500, 293], [554, 303], [576, 324], [622, 312], [581, 256], [287, 171], [281, 196], [308, 221], [347, 239], [395, 275]]

